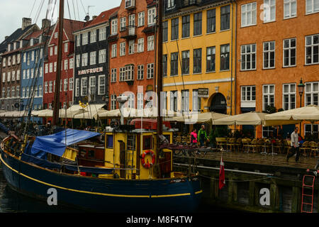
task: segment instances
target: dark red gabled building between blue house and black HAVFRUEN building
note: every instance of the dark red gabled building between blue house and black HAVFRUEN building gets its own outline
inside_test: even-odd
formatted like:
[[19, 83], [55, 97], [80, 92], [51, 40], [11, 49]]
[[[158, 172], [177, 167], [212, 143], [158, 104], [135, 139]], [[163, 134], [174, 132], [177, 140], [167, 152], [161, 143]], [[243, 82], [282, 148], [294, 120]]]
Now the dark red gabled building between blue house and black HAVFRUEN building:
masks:
[[[60, 109], [72, 106], [72, 92], [74, 89], [73, 69], [74, 69], [74, 31], [84, 28], [84, 22], [64, 19], [63, 21], [63, 45], [62, 45], [62, 65], [60, 80]], [[48, 43], [47, 59], [44, 64], [44, 89], [43, 107], [52, 109], [52, 101], [55, 94], [55, 78], [57, 74], [57, 38], [59, 23], [55, 24], [51, 38]]]

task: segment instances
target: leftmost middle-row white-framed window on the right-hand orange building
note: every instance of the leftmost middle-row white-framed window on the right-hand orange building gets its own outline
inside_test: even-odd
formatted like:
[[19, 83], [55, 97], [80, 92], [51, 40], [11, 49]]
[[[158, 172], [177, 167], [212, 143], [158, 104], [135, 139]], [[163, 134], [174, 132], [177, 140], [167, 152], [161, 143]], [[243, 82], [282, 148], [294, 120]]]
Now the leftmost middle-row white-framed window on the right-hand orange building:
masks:
[[256, 70], [256, 44], [240, 47], [240, 70]]

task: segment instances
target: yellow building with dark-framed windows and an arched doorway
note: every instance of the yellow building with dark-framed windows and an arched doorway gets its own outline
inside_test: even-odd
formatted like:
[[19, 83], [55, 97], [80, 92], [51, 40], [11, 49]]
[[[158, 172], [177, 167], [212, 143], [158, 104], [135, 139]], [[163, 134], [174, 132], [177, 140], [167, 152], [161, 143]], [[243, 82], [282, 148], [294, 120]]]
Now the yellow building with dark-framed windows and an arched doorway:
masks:
[[167, 109], [234, 113], [235, 10], [233, 1], [165, 0]]

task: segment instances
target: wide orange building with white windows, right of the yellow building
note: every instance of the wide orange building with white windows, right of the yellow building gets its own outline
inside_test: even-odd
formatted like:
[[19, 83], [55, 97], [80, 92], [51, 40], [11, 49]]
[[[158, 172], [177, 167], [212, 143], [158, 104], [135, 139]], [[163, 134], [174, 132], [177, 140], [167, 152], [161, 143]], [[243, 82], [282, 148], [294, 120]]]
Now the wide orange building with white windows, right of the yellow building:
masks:
[[[236, 114], [268, 106], [294, 109], [318, 105], [319, 8], [315, 1], [237, 1]], [[304, 92], [298, 84], [302, 78]], [[284, 126], [283, 134], [294, 126]], [[311, 130], [303, 124], [301, 135]], [[318, 131], [318, 125], [313, 128]], [[257, 135], [272, 128], [259, 126]]]

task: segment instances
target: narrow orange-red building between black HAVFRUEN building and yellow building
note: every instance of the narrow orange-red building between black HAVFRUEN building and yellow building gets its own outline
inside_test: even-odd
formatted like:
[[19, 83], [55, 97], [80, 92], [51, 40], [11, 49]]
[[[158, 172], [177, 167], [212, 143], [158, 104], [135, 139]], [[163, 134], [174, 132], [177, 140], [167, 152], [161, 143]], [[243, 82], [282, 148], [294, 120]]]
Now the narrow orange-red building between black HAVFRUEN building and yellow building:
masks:
[[141, 108], [145, 93], [155, 91], [155, 16], [148, 0], [123, 0], [110, 16], [110, 109], [118, 109], [116, 97], [124, 93], [128, 106]]

